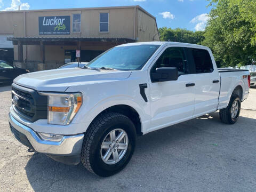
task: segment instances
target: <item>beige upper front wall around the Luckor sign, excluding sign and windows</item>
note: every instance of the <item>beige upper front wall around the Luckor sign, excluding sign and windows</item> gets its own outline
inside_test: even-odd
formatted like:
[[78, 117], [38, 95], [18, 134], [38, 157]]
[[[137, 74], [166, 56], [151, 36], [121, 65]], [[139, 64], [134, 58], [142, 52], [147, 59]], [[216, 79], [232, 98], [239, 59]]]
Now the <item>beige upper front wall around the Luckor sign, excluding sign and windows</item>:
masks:
[[[81, 13], [81, 33], [72, 32], [73, 13]], [[100, 13], [109, 13], [109, 32], [99, 32]], [[42, 11], [26, 13], [27, 37], [90, 37], [90, 38], [133, 38], [134, 9], [104, 9], [77, 11]], [[39, 35], [38, 17], [70, 16], [70, 35]]]

